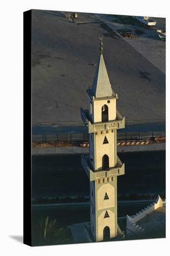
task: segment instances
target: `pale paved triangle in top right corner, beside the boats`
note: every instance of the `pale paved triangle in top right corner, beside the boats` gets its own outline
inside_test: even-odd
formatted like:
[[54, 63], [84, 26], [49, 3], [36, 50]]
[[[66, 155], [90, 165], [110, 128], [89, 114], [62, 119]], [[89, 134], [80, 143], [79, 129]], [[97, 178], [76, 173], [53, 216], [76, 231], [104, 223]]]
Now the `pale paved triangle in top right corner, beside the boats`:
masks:
[[[129, 29], [133, 34], [136, 34], [135, 30], [140, 28], [144, 34], [137, 34], [137, 38], [135, 39], [127, 37], [122, 37], [122, 39], [129, 43], [135, 50], [165, 74], [165, 41], [160, 40], [157, 35], [157, 29], [165, 30], [164, 18], [153, 18], [157, 21], [157, 24], [154, 27], [141, 27], [140, 22], [138, 21], [135, 25], [125, 25], [114, 22], [118, 19], [117, 16], [119, 15], [96, 15], [100, 20], [105, 21], [105, 23], [116, 33], [118, 33], [119, 29]], [[118, 34], [120, 35], [120, 33]]]

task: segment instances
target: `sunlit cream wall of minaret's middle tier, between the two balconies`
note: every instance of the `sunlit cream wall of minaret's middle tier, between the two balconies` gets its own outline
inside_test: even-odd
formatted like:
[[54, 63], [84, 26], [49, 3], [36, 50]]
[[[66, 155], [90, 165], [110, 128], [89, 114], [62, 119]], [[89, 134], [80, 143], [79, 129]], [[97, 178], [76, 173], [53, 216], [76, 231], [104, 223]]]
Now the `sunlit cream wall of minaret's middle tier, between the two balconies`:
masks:
[[[103, 155], [108, 155], [109, 156], [109, 167], [115, 166], [115, 139], [114, 139], [114, 130], [111, 132], [111, 130], [106, 133], [106, 131], [103, 132], [103, 134], [99, 133], [96, 136], [96, 152], [95, 152], [95, 157], [96, 157], [96, 166], [95, 170], [98, 168], [102, 168], [102, 157]], [[103, 144], [103, 141], [105, 139], [105, 136], [108, 140], [109, 143]]]

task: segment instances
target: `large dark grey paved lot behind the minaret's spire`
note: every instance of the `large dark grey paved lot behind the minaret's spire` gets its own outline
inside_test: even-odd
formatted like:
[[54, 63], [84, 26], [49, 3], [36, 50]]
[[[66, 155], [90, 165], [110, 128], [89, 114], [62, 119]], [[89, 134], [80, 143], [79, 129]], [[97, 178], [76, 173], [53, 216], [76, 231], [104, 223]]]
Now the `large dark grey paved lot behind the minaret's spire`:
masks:
[[121, 115], [146, 125], [164, 121], [163, 72], [95, 15], [78, 17], [84, 23], [73, 24], [61, 12], [33, 10], [33, 126], [82, 126], [79, 108], [88, 106], [85, 89], [95, 74], [91, 64], [98, 61], [99, 34], [104, 34], [105, 64]]

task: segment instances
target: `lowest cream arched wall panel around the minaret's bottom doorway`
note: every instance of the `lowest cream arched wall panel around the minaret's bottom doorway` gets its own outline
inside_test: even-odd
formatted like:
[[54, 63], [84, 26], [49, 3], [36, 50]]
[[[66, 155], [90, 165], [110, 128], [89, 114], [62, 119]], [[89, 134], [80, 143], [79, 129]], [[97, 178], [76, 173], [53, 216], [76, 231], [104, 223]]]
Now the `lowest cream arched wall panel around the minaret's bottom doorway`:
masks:
[[106, 226], [110, 228], [110, 238], [113, 238], [117, 235], [115, 229], [115, 214], [111, 210], [107, 210], [109, 218], [104, 218], [105, 210], [98, 216], [98, 236], [97, 241], [103, 241], [103, 230]]

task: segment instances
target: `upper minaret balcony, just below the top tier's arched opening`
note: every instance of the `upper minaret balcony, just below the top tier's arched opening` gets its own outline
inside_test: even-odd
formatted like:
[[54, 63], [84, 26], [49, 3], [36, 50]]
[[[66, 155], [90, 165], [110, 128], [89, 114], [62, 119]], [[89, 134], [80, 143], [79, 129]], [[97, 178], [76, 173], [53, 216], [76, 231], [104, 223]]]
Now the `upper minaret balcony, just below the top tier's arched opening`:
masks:
[[89, 117], [88, 109], [81, 108], [81, 118], [88, 127], [89, 133], [99, 132], [109, 129], [121, 129], [124, 128], [125, 118], [120, 115], [118, 110], [116, 110], [116, 119], [107, 121], [107, 122], [96, 122], [92, 123], [91, 118]]

